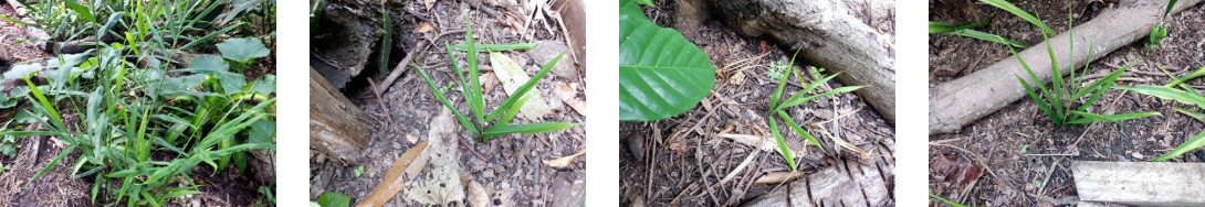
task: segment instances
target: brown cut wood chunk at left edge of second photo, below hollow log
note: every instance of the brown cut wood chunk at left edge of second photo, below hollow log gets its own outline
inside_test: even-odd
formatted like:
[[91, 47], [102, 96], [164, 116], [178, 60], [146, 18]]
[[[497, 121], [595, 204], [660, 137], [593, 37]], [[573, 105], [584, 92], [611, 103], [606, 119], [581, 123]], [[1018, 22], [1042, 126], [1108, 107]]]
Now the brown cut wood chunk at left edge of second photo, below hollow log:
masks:
[[374, 131], [369, 123], [364, 111], [310, 69], [310, 148], [359, 162]]

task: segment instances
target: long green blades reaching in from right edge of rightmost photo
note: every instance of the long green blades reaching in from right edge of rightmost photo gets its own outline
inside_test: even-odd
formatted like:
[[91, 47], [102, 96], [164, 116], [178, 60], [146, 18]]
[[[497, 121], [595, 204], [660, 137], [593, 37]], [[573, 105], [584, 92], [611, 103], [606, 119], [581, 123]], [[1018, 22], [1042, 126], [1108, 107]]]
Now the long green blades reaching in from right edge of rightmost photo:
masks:
[[[1162, 70], [1163, 67], [1159, 69]], [[1166, 72], [1166, 70], [1164, 70], [1164, 72]], [[1197, 89], [1189, 87], [1188, 84], [1185, 84], [1185, 82], [1200, 77], [1203, 75], [1205, 75], [1205, 67], [1200, 67], [1197, 71], [1193, 71], [1192, 73], [1188, 73], [1183, 77], [1175, 78], [1174, 81], [1169, 82], [1165, 85], [1134, 85], [1134, 87], [1117, 85], [1116, 88], [1122, 90], [1136, 91], [1139, 94], [1146, 94], [1159, 99], [1170, 99], [1181, 104], [1197, 105], [1198, 107], [1205, 110], [1205, 96], [1201, 96], [1201, 94], [1197, 91]], [[1180, 87], [1180, 89], [1176, 89], [1175, 87]], [[1199, 122], [1205, 123], [1205, 113], [1181, 107], [1176, 107], [1176, 111], [1188, 117], [1192, 117]], [[1177, 158], [1185, 153], [1198, 149], [1201, 146], [1205, 146], [1205, 132], [1197, 134], [1192, 138], [1188, 138], [1188, 141], [1185, 141], [1185, 143], [1177, 146], [1171, 152], [1164, 153], [1159, 158], [1151, 159], [1151, 161], [1163, 161]]]

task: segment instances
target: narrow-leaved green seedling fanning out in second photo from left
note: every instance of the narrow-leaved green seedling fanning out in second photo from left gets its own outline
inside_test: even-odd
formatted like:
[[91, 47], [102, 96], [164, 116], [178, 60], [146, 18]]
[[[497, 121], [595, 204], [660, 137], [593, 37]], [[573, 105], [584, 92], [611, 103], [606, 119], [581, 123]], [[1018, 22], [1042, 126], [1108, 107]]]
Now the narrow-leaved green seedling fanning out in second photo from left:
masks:
[[[445, 107], [452, 110], [452, 112], [455, 114], [457, 120], [460, 122], [460, 125], [464, 126], [465, 130], [472, 132], [472, 136], [481, 137], [482, 142], [488, 142], [489, 138], [492, 137], [502, 136], [507, 134], [547, 132], [581, 124], [581, 123], [556, 123], [556, 122], [536, 123], [536, 124], [510, 124], [511, 119], [513, 119], [515, 116], [518, 113], [519, 107], [522, 107], [527, 102], [527, 99], [523, 97], [524, 94], [527, 94], [528, 90], [535, 88], [535, 84], [540, 81], [540, 78], [547, 75], [548, 70], [556, 66], [557, 61], [559, 61], [560, 58], [565, 57], [565, 53], [569, 52], [568, 49], [565, 52], [562, 52], [560, 55], [557, 55], [557, 58], [553, 58], [547, 64], [545, 64], [543, 67], [540, 69], [540, 72], [536, 72], [536, 75], [533, 76], [531, 79], [529, 79], [527, 83], [523, 83], [523, 85], [521, 85], [518, 89], [511, 93], [510, 97], [506, 97], [506, 100], [502, 101], [502, 104], [498, 106], [498, 108], [494, 108], [494, 111], [488, 112], [487, 116], [484, 111], [486, 101], [482, 99], [482, 88], [480, 79], [481, 76], [478, 75], [477, 71], [477, 49], [472, 41], [472, 23], [466, 19], [465, 26], [468, 28], [465, 29], [465, 42], [469, 45], [466, 47], [468, 48], [466, 57], [469, 59], [468, 77], [465, 77], [464, 72], [460, 72], [460, 66], [459, 64], [457, 64], [455, 55], [452, 53], [452, 45], [448, 43], [447, 41], [445, 41], [443, 45], [445, 47], [447, 47], [448, 59], [452, 61], [452, 69], [455, 71], [454, 75], [457, 79], [455, 83], [462, 87], [460, 91], [463, 91], [464, 100], [465, 102], [469, 104], [469, 108], [471, 110], [471, 116], [474, 117], [471, 118], [465, 117], [463, 113], [457, 111], [455, 106], [452, 106], [452, 102], [449, 102], [448, 99], [443, 95], [443, 93], [439, 90], [439, 87], [435, 84], [435, 82], [431, 81], [429, 76], [427, 76], [427, 72], [415, 63], [411, 63], [411, 65], [415, 66], [416, 70], [418, 70], [418, 73], [423, 76], [423, 81], [425, 81], [427, 85], [431, 89], [431, 94], [435, 94], [435, 97], [439, 99]], [[495, 119], [498, 122], [494, 122]], [[490, 122], [493, 123], [490, 124]]]

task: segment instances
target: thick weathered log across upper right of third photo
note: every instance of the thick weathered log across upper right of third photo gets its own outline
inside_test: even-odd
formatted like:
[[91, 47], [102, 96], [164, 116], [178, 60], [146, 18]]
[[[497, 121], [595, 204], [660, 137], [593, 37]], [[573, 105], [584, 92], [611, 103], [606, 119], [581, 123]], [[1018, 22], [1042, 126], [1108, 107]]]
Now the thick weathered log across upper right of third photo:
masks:
[[831, 72], [844, 71], [845, 73], [836, 79], [846, 85], [865, 85], [854, 93], [872, 106], [884, 120], [895, 124], [895, 37], [893, 34], [880, 32], [870, 25], [893, 20], [894, 2], [694, 1], [709, 1], [710, 11], [719, 16], [719, 19], [734, 31], [747, 36], [769, 36], [778, 45], [798, 49], [800, 58], [807, 63]]

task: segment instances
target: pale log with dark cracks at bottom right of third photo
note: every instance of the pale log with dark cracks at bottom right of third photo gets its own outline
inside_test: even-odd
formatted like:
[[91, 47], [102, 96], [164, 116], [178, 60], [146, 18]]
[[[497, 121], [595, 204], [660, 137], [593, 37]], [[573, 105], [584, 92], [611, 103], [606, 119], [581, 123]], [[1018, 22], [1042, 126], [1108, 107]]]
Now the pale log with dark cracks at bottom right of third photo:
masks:
[[[894, 146], [884, 140], [882, 146]], [[871, 144], [880, 146], [880, 144]], [[878, 147], [870, 153], [884, 156], [868, 160], [837, 161], [836, 165], [806, 175], [786, 188], [777, 188], [747, 202], [746, 207], [763, 206], [890, 206], [894, 203], [894, 147]]]

